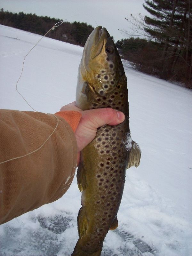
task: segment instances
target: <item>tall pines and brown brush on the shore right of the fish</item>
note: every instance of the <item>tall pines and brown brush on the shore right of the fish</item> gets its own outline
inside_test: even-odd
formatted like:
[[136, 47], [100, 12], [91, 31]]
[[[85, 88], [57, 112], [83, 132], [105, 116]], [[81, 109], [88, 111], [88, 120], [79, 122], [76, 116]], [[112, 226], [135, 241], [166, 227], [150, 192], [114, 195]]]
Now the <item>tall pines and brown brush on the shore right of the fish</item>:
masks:
[[143, 6], [149, 16], [125, 19], [146, 39], [117, 41], [122, 57], [142, 72], [192, 88], [192, 1], [145, 0]]

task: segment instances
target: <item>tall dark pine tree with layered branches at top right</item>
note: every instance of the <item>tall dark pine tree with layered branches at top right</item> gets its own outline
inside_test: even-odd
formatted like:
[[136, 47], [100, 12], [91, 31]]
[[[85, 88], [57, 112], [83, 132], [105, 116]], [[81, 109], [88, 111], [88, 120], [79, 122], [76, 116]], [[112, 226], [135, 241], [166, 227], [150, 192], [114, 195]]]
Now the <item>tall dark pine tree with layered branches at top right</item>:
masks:
[[146, 0], [143, 5], [150, 14], [144, 18], [144, 30], [157, 42], [164, 44], [161, 55], [163, 77], [173, 79], [180, 75], [180, 80], [189, 86], [192, 79], [191, 2]]

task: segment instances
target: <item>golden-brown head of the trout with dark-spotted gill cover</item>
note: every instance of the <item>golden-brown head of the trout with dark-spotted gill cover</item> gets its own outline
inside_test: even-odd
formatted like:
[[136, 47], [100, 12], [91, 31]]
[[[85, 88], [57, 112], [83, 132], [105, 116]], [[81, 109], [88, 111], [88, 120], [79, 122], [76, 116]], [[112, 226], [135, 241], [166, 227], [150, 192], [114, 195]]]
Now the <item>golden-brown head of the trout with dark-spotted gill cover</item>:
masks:
[[116, 89], [124, 74], [121, 58], [107, 29], [95, 28], [84, 46], [76, 94], [81, 91], [84, 94], [90, 92], [93, 98], [106, 96]]

